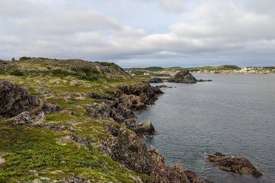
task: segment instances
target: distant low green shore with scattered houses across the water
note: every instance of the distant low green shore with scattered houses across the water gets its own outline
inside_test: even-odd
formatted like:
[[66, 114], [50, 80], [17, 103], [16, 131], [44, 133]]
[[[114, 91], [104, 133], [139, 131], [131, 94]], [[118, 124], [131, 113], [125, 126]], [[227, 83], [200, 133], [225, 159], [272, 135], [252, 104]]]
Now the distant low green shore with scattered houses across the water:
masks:
[[191, 73], [209, 73], [209, 74], [275, 74], [275, 66], [268, 67], [238, 67], [237, 65], [219, 65], [204, 67], [133, 67], [125, 68], [125, 72], [132, 76], [173, 76], [176, 72], [188, 69]]

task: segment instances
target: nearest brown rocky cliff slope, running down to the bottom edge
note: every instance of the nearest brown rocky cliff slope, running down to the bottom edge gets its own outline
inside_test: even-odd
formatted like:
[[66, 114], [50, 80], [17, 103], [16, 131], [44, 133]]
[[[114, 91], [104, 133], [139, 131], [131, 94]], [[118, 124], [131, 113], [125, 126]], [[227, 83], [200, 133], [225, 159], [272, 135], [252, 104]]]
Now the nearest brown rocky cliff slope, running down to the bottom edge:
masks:
[[207, 183], [207, 180], [203, 180], [194, 173], [192, 177], [185, 173], [179, 164], [173, 168], [165, 166], [163, 155], [152, 146], [147, 149], [136, 133], [131, 133], [125, 127], [119, 128], [116, 125], [102, 123], [108, 129], [110, 138], [101, 142], [98, 148], [128, 169], [152, 176], [153, 180], [143, 180], [143, 182]]

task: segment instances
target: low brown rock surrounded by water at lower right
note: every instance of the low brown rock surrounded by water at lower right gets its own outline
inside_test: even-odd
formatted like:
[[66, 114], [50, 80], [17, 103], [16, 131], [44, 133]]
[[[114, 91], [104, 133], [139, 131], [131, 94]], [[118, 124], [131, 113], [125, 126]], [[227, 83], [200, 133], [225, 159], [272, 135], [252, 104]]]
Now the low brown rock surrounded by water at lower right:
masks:
[[230, 171], [238, 174], [249, 174], [254, 177], [261, 177], [263, 173], [257, 171], [256, 168], [243, 157], [234, 157], [223, 155], [222, 153], [214, 153], [207, 155], [207, 160], [218, 166], [223, 171]]

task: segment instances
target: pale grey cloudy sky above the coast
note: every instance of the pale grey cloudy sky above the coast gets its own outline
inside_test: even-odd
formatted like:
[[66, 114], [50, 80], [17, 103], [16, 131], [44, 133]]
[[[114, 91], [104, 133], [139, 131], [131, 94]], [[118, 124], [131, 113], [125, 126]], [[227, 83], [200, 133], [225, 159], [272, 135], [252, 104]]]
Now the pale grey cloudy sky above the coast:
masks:
[[274, 0], [0, 0], [0, 59], [275, 65]]

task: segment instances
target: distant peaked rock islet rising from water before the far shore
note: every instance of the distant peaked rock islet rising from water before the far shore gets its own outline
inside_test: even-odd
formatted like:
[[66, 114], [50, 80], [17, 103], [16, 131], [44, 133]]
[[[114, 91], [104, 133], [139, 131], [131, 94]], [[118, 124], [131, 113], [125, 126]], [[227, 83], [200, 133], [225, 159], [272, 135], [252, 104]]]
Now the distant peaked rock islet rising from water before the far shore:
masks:
[[168, 80], [172, 83], [196, 83], [197, 81], [187, 69], [181, 70]]

